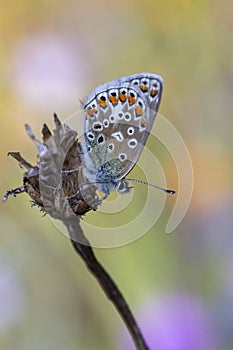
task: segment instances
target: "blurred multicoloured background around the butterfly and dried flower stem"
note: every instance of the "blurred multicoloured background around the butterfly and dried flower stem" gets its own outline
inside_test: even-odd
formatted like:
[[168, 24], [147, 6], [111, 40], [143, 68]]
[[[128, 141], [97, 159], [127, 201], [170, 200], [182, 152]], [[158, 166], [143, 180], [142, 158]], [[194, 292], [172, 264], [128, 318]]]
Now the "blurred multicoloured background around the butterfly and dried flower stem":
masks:
[[[232, 13], [231, 0], [1, 4], [2, 197], [21, 185], [23, 175], [7, 152], [36, 162], [25, 123], [39, 136], [44, 122], [52, 127], [54, 112], [65, 120], [99, 84], [143, 71], [164, 78], [160, 113], [180, 132], [193, 162], [190, 208], [166, 235], [168, 198], [160, 220], [141, 239], [96, 249], [151, 349], [233, 348]], [[176, 188], [169, 156], [151, 147], [163, 159], [169, 187]], [[133, 176], [140, 176], [137, 169]], [[136, 189], [140, 210], [147, 188]], [[90, 215], [111, 222], [98, 211]], [[127, 215], [118, 215], [118, 222]], [[1, 204], [0, 349], [51, 347], [134, 349], [68, 239], [21, 195]]]

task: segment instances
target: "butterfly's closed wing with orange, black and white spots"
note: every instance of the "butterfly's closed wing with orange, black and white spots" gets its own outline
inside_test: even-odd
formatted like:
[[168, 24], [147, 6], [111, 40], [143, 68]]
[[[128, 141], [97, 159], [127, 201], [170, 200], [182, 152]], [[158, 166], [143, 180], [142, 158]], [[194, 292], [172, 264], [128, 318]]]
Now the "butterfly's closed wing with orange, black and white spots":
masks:
[[92, 181], [120, 180], [135, 166], [159, 109], [162, 89], [160, 76], [140, 73], [99, 86], [88, 97], [84, 161]]

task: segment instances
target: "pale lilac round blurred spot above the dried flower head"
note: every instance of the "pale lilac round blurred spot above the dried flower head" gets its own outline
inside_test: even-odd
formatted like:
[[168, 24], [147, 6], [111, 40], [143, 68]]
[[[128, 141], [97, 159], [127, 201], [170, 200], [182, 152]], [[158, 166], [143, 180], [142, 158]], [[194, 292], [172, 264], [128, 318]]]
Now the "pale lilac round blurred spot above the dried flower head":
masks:
[[24, 104], [45, 111], [49, 105], [60, 109], [77, 102], [86, 74], [83, 53], [81, 43], [77, 47], [62, 35], [48, 32], [21, 38], [8, 66], [12, 91]]

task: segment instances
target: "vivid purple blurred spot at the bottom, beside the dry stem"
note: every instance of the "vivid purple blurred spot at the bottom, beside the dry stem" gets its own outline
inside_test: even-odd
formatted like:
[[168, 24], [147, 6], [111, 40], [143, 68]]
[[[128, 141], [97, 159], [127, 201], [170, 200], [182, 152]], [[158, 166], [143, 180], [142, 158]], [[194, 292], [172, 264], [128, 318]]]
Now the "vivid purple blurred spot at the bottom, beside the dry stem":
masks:
[[[136, 314], [150, 349], [218, 349], [208, 310], [190, 294], [156, 297], [141, 305]], [[134, 349], [125, 332], [120, 339], [119, 350]]]

